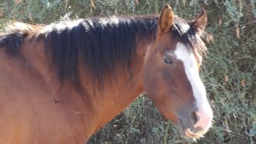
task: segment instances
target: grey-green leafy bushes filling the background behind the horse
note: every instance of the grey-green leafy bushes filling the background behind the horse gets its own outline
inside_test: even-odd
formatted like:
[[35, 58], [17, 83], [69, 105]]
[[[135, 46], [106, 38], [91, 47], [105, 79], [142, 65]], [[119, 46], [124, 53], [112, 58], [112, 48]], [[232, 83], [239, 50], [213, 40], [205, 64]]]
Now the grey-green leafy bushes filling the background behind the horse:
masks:
[[[202, 7], [209, 14], [201, 75], [214, 109], [214, 124], [198, 143], [256, 143], [255, 0], [0, 0], [0, 30], [13, 21], [50, 24], [60, 19], [155, 14], [169, 3], [192, 20]], [[205, 38], [207, 41], [207, 38]], [[146, 97], [98, 131], [89, 143], [194, 143], [181, 138]]]

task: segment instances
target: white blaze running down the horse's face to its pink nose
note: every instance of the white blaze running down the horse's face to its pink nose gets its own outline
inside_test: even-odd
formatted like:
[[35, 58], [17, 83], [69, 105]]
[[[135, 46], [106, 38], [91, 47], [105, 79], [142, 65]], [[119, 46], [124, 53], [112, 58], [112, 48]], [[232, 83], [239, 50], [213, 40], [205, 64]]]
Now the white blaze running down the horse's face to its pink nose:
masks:
[[[197, 61], [194, 58], [193, 51], [182, 44], [181, 42], [177, 43], [176, 49], [174, 50], [174, 54], [183, 62], [186, 71], [186, 77], [190, 81], [190, 85], [192, 86], [195, 104], [198, 106], [198, 124], [203, 125], [208, 129], [211, 125], [211, 119], [213, 117], [213, 111], [210, 108], [210, 104], [206, 98], [206, 88], [202, 84], [201, 78], [198, 74], [198, 65]], [[200, 117], [202, 118], [200, 119]], [[210, 118], [210, 120], [209, 120]]]

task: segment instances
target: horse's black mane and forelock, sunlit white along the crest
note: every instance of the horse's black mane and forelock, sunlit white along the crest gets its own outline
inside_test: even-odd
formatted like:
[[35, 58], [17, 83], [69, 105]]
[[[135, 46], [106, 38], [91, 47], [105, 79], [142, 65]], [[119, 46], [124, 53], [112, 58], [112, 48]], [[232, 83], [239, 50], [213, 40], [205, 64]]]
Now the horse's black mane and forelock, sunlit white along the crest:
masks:
[[[37, 35], [45, 39], [46, 53], [50, 52], [60, 82], [69, 80], [79, 85], [79, 58], [82, 59], [84, 68], [92, 74], [93, 81], [101, 83], [106, 74], [115, 74], [118, 65], [130, 70], [130, 60], [136, 52], [136, 38], [154, 35], [157, 22], [156, 15], [91, 18], [54, 23], [43, 27]], [[197, 31], [192, 26], [185, 30], [185, 25], [189, 26], [182, 18], [175, 17], [171, 34], [193, 48]], [[5, 45], [6, 51], [13, 55], [17, 54], [22, 41], [28, 35], [26, 33], [29, 33], [27, 31], [21, 34], [22, 30], [16, 29], [0, 35], [0, 46]]]

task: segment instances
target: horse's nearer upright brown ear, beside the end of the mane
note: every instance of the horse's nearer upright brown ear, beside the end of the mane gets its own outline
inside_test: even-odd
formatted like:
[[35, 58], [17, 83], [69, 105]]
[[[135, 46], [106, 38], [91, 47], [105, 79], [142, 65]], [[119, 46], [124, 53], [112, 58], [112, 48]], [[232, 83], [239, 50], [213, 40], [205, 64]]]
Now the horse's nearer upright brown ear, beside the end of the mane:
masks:
[[173, 24], [174, 12], [172, 8], [166, 4], [166, 6], [162, 8], [162, 11], [158, 18], [158, 32], [160, 32], [160, 34], [168, 32]]

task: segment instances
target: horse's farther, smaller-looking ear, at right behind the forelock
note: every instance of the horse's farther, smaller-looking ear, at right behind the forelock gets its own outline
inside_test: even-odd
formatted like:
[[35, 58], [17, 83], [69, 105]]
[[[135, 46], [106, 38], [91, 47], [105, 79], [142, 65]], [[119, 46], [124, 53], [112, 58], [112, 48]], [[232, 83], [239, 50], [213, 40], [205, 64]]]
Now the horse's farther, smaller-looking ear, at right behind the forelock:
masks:
[[193, 26], [194, 29], [196, 30], [203, 30], [206, 26], [206, 22], [207, 22], [206, 10], [202, 9], [201, 14], [199, 14], [197, 18], [194, 18], [194, 20], [191, 23], [191, 26]]

